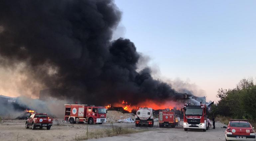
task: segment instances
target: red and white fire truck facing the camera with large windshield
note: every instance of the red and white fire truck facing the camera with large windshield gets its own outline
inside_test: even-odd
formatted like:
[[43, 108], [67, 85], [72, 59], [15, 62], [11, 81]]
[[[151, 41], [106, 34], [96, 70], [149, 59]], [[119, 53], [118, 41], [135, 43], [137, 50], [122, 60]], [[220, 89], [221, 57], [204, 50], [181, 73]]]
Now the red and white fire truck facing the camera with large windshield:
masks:
[[203, 131], [206, 131], [208, 129], [208, 121], [206, 116], [207, 110], [208, 109], [205, 104], [184, 104], [184, 130], [187, 131], [188, 129], [202, 129]]

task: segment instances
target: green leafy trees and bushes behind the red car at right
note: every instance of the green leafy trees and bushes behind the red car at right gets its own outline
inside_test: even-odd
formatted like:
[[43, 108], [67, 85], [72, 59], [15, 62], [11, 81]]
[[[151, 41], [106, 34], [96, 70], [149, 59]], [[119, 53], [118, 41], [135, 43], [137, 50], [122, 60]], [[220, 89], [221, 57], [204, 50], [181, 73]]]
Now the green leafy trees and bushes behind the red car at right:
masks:
[[242, 79], [234, 89], [220, 88], [216, 97], [217, 104], [212, 105], [211, 115], [228, 124], [230, 118], [248, 119], [256, 127], [256, 84], [253, 78]]

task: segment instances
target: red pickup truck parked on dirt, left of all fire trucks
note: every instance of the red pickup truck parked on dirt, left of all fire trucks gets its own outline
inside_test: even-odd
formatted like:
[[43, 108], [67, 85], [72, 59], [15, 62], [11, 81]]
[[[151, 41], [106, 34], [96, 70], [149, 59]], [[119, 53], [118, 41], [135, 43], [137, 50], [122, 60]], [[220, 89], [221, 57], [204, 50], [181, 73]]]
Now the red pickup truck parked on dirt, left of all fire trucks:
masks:
[[48, 117], [46, 113], [34, 113], [26, 121], [26, 128], [32, 126], [32, 130], [36, 129], [36, 127], [40, 129], [46, 127], [47, 130], [50, 130], [52, 125], [53, 118]]

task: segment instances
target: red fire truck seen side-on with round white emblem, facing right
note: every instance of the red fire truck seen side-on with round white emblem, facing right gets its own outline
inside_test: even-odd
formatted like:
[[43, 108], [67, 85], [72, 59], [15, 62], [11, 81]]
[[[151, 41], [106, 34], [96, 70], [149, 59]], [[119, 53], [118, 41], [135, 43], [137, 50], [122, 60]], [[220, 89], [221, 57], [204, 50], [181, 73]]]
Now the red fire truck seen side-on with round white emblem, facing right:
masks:
[[64, 120], [70, 123], [102, 124], [106, 122], [106, 113], [107, 110], [102, 106], [65, 104]]

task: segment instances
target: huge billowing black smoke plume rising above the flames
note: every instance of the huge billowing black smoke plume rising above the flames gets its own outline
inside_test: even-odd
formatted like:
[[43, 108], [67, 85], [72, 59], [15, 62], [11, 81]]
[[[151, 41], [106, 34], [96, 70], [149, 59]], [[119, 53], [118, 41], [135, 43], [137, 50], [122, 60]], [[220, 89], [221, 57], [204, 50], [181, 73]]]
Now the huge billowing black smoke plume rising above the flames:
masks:
[[136, 71], [133, 42], [111, 41], [120, 19], [112, 0], [1, 0], [1, 65], [24, 62], [29, 77], [87, 104], [173, 99], [150, 68]]

